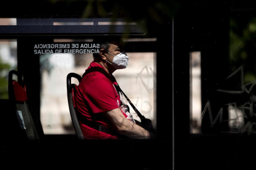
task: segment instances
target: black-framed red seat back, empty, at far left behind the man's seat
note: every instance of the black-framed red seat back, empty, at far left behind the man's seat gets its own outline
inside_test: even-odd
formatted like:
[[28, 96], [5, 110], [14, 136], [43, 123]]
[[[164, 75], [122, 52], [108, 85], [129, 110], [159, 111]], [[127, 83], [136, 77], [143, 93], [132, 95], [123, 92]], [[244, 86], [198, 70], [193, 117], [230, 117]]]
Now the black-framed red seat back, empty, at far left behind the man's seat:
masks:
[[[12, 79], [12, 75], [17, 75], [18, 81]], [[9, 100], [15, 104], [15, 110], [20, 129], [25, 130], [28, 139], [40, 139], [34, 120], [27, 105], [26, 86], [23, 83], [22, 75], [18, 71], [9, 71], [8, 94]]]

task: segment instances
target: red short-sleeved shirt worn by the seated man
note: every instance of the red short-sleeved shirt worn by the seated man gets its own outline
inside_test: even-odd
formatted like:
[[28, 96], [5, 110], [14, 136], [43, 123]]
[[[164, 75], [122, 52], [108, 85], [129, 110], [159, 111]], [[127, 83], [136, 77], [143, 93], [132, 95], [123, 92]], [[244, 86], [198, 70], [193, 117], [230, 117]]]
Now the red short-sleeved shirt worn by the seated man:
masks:
[[75, 106], [80, 114], [79, 123], [86, 139], [118, 139], [117, 136], [86, 125], [86, 121], [94, 120], [101, 126], [113, 129], [113, 125], [103, 113], [120, 107], [120, 97], [114, 83], [116, 84], [114, 78], [98, 63], [90, 63], [85, 70], [77, 89]]

